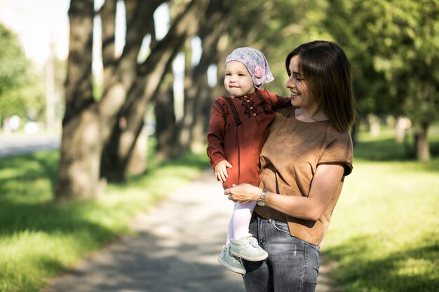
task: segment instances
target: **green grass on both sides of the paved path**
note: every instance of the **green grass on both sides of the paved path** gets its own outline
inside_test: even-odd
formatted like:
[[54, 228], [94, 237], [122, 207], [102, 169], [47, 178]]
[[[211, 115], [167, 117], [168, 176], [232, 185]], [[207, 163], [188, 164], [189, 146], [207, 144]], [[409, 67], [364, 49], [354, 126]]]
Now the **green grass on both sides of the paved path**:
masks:
[[[323, 242], [344, 292], [439, 291], [439, 133], [433, 160], [407, 160], [384, 131], [360, 133], [353, 173]], [[0, 291], [36, 292], [88, 253], [120, 235], [208, 165], [204, 153], [154, 165], [147, 175], [110, 184], [93, 202], [53, 202], [58, 153], [0, 159]]]

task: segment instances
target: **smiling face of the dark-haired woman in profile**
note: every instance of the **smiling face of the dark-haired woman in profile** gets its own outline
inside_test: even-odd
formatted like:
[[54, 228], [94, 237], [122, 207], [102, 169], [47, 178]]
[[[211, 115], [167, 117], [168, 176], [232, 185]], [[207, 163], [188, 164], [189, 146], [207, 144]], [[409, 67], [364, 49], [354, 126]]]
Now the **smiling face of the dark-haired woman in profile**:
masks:
[[304, 109], [316, 107], [316, 100], [311, 97], [308, 88], [306, 88], [306, 80], [302, 72], [299, 71], [299, 56], [296, 55], [291, 58], [288, 75], [286, 87], [291, 92], [291, 104]]

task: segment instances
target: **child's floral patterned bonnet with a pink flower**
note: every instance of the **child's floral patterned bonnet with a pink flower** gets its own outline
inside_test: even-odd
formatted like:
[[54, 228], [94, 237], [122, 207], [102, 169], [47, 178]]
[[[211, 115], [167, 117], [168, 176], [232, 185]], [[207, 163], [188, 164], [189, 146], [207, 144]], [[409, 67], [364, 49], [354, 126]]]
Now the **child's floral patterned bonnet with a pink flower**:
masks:
[[227, 64], [231, 61], [241, 62], [247, 67], [248, 72], [252, 76], [253, 85], [259, 89], [262, 85], [273, 81], [273, 74], [271, 74], [269, 62], [262, 52], [254, 48], [243, 47], [236, 48], [230, 55], [227, 56]]

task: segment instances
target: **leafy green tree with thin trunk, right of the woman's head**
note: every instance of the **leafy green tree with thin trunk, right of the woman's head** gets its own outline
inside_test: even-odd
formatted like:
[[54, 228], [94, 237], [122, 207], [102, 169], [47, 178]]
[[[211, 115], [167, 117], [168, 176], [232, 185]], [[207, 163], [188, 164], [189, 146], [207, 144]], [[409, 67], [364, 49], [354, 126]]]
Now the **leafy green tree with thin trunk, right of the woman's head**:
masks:
[[439, 1], [337, 0], [327, 15], [360, 69], [363, 100], [375, 112], [407, 114], [417, 159], [428, 160], [428, 127], [439, 118]]

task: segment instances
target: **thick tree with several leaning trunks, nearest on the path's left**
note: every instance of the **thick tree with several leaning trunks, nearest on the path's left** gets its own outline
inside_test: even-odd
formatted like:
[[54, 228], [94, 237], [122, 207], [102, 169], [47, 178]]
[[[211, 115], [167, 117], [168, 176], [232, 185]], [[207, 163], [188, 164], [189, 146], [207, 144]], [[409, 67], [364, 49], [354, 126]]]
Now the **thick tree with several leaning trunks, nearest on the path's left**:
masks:
[[[72, 0], [69, 8], [70, 48], [66, 81], [66, 111], [62, 121], [62, 144], [55, 196], [59, 199], [92, 198], [105, 185], [104, 169], [119, 170], [126, 163], [142, 127], [147, 102], [157, 92], [170, 62], [184, 40], [196, 29], [196, 15], [205, 1], [193, 0], [182, 6], [168, 34], [151, 42], [151, 53], [138, 64], [137, 56], [147, 32], [154, 27], [151, 16], [162, 0], [126, 0], [126, 45], [114, 57], [114, 15], [116, 0], [102, 7], [102, 61], [104, 90], [93, 97], [92, 46], [93, 0]], [[121, 131], [120, 118], [126, 118]], [[104, 146], [107, 145], [104, 151]], [[103, 155], [104, 153], [104, 155]], [[116, 162], [112, 168], [112, 162]], [[103, 166], [103, 167], [102, 167]], [[107, 176], [109, 172], [105, 173]], [[105, 176], [104, 176], [105, 177]]]

